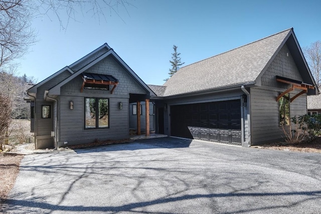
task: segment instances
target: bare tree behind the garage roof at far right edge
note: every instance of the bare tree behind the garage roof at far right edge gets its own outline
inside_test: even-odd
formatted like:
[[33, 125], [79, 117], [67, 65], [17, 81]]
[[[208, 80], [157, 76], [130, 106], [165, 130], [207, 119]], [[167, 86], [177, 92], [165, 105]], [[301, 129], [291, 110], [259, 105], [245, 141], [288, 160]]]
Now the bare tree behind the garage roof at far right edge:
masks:
[[321, 87], [321, 41], [312, 43], [309, 47], [304, 49], [309, 68], [314, 77], [316, 86]]

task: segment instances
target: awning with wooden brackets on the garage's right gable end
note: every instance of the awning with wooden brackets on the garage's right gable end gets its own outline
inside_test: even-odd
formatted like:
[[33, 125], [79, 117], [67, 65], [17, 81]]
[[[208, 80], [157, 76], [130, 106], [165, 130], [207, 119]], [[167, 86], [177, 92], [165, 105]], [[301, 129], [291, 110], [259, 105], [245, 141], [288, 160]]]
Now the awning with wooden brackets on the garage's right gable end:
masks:
[[307, 89], [314, 89], [314, 86], [308, 83], [303, 83], [301, 81], [298, 80], [292, 80], [289, 78], [285, 78], [285, 77], [279, 77], [276, 76], [276, 82], [281, 82], [281, 83], [287, 83], [290, 84], [291, 87], [287, 90], [285, 90], [284, 92], [282, 92], [281, 94], [279, 94], [279, 96], [277, 96], [276, 101], [279, 101], [279, 99], [284, 96], [285, 94], [289, 93], [290, 91], [294, 91], [294, 89], [301, 89], [302, 91], [299, 92], [298, 94], [296, 94], [295, 96], [293, 96], [290, 99], [290, 102], [292, 102], [293, 100], [295, 100], [298, 96], [300, 96], [301, 94], [307, 93]]

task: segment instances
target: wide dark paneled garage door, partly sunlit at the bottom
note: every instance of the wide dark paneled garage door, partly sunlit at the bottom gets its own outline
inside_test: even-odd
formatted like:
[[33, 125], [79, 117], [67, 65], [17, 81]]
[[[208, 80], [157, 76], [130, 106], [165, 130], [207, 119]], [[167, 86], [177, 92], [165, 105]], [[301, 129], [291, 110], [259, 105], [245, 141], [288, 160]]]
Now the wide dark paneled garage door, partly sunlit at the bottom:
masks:
[[171, 135], [241, 144], [240, 100], [171, 106]]

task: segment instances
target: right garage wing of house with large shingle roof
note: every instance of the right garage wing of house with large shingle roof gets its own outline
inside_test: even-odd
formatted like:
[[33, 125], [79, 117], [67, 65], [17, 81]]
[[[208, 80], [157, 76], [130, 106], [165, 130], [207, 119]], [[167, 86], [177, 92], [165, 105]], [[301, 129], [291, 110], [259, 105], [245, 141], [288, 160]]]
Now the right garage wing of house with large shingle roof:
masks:
[[244, 147], [278, 141], [282, 125], [306, 114], [307, 95], [318, 94], [314, 85], [288, 29], [185, 66], [151, 88], [156, 132]]

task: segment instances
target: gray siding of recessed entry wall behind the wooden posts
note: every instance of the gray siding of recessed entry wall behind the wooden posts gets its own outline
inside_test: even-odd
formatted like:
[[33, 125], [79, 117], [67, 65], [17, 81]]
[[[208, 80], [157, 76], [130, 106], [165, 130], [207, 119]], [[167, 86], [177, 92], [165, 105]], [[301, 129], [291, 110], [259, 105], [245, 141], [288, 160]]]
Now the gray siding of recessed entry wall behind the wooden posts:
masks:
[[[132, 106], [137, 105], [136, 103], [129, 104], [129, 128], [137, 130], [137, 115], [133, 114]], [[146, 116], [145, 116], [145, 102], [140, 102], [141, 105], [141, 115], [140, 115], [140, 130], [146, 130]], [[155, 114], [154, 114], [154, 104], [149, 102], [149, 131], [155, 131]]]

